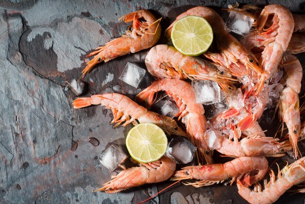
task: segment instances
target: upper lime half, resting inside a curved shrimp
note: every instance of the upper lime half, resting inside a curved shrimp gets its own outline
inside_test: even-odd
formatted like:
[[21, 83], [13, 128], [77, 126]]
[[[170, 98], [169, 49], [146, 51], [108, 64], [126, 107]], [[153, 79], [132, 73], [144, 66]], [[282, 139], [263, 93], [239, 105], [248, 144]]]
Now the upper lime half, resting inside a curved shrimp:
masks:
[[172, 27], [172, 43], [184, 55], [198, 56], [206, 52], [213, 41], [213, 30], [202, 17], [187, 16]]

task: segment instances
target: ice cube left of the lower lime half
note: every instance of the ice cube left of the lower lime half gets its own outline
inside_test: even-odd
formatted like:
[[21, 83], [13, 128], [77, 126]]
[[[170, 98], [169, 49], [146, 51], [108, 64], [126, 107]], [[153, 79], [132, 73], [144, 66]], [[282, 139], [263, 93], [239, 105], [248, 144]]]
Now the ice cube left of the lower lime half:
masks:
[[99, 162], [106, 168], [108, 168], [110, 171], [114, 171], [125, 157], [127, 157], [127, 155], [120, 147], [115, 144], [111, 144], [98, 156], [98, 159]]

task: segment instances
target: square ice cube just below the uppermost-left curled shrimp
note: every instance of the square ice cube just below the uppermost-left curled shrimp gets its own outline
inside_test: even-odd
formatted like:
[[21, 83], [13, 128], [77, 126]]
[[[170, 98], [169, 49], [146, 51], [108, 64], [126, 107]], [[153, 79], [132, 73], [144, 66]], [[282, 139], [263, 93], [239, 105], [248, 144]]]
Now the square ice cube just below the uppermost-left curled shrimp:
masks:
[[145, 69], [142, 69], [133, 63], [127, 62], [119, 79], [125, 83], [128, 83], [134, 88], [137, 88], [145, 73]]

